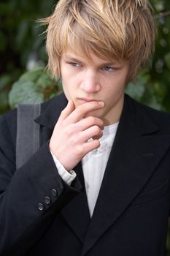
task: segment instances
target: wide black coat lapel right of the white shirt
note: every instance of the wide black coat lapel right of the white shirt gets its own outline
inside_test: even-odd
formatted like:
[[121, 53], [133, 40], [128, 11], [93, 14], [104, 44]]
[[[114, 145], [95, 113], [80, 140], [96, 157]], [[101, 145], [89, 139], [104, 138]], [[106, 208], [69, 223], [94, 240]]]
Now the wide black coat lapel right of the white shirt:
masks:
[[166, 153], [170, 136], [158, 135], [158, 130], [147, 112], [126, 96], [82, 255], [114, 225]]

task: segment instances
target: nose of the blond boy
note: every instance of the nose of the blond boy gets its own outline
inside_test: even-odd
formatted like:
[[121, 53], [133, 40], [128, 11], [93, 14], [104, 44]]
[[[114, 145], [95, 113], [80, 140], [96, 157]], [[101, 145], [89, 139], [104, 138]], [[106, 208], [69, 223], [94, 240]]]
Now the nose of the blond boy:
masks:
[[101, 89], [99, 77], [95, 72], [85, 72], [80, 88], [88, 94], [93, 94]]

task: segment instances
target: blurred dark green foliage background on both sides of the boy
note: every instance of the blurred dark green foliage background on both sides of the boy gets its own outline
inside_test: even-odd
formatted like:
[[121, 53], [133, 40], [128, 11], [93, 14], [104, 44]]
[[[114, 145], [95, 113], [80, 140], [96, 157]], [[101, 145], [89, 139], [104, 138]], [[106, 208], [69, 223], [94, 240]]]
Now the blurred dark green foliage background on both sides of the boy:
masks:
[[[155, 55], [126, 92], [152, 108], [170, 111], [170, 1], [150, 2], [158, 25]], [[61, 81], [52, 80], [45, 69], [45, 27], [36, 22], [50, 15], [56, 3], [0, 0], [0, 113], [20, 102], [43, 102], [62, 90]]]

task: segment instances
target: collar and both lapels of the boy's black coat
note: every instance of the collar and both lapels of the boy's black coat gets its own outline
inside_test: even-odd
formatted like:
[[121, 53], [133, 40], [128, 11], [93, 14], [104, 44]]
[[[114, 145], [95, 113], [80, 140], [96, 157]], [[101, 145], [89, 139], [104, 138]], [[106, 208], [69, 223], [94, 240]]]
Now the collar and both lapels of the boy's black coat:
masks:
[[[36, 121], [53, 129], [65, 106], [66, 97], [61, 94], [50, 102]], [[83, 243], [82, 255], [123, 214], [169, 148], [170, 136], [161, 134], [147, 112], [147, 107], [125, 95], [122, 116], [92, 219], [84, 186], [82, 193], [63, 208], [63, 217]], [[81, 165], [76, 169], [77, 175], [82, 176]]]

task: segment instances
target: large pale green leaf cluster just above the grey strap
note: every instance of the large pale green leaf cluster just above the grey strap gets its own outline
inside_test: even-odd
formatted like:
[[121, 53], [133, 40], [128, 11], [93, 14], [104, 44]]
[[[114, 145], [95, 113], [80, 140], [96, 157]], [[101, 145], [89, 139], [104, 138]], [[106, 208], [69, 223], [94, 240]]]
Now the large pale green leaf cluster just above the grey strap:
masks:
[[50, 78], [48, 71], [42, 67], [28, 71], [21, 75], [9, 92], [9, 105], [17, 107], [19, 103], [45, 102], [59, 92], [56, 80]]

